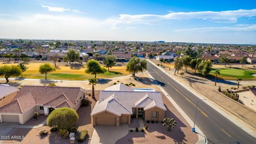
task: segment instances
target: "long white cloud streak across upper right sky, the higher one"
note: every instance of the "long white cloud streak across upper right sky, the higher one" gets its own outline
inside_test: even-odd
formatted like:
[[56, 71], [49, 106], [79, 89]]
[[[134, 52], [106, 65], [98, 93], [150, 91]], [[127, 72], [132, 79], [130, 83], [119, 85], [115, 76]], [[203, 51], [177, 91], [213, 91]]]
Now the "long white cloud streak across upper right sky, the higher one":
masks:
[[201, 12], [171, 12], [165, 15], [156, 14], [120, 14], [118, 20], [120, 22], [132, 21], [150, 23], [159, 20], [188, 20], [203, 19], [221, 23], [235, 23], [238, 18], [254, 17], [256, 9], [252, 10], [234, 10], [234, 11], [201, 11]]

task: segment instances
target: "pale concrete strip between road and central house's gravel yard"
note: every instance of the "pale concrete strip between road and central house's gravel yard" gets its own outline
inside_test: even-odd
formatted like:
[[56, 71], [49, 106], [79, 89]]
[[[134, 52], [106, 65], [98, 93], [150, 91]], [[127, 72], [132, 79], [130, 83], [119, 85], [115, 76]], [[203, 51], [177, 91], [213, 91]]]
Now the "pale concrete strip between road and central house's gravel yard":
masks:
[[[153, 76], [151, 76], [148, 73], [149, 77], [152, 79], [155, 79]], [[164, 93], [165, 97], [172, 103], [172, 105], [179, 111], [181, 116], [185, 118], [185, 120], [188, 122], [188, 124], [193, 127], [194, 122], [188, 117], [188, 115], [179, 107], [179, 105], [171, 98], [169, 94], [161, 87], [159, 86], [160, 90]], [[196, 143], [201, 144], [201, 143], [207, 143], [207, 138], [205, 137], [204, 133], [199, 129], [197, 125], [195, 125], [197, 135], [198, 135], [198, 141]]]

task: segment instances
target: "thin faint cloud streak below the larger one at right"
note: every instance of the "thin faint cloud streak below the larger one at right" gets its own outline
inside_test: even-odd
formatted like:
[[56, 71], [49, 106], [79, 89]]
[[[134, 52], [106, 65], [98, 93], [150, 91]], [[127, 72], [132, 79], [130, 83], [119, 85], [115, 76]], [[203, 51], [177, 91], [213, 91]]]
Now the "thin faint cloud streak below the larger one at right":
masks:
[[256, 30], [256, 25], [236, 25], [236, 27], [204, 27], [204, 28], [191, 28], [191, 29], [177, 29], [173, 31], [253, 31]]

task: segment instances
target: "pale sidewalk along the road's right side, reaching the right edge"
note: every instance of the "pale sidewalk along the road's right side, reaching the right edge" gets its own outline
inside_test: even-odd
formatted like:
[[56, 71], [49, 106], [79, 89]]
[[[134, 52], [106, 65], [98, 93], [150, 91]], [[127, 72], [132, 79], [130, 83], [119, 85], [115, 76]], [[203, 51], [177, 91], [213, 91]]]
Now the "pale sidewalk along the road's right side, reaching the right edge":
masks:
[[[147, 59], [148, 62], [152, 63], [153, 65], [155, 65], [154, 62], [151, 62], [150, 60]], [[158, 69], [162, 70], [164, 73], [168, 73], [168, 71], [166, 71], [165, 69], [161, 68], [161, 67], [157, 67]], [[191, 93], [195, 94], [199, 99], [205, 99], [207, 97], [205, 97], [205, 95], [196, 92], [195, 90], [191, 89], [190, 86], [187, 86], [185, 84], [183, 84], [179, 79], [175, 78], [175, 77], [171, 77], [169, 75], [170, 78], [172, 78], [174, 81], [180, 83], [182, 86], [186, 86], [186, 89], [189, 90]], [[216, 111], [218, 111], [221, 115], [223, 115], [224, 117], [226, 117], [227, 119], [229, 119], [229, 121], [233, 122], [234, 124], [236, 124], [238, 127], [240, 127], [241, 129], [243, 129], [244, 131], [246, 131], [247, 133], [249, 133], [250, 135], [252, 135], [254, 138], [256, 138], [256, 133], [253, 131], [253, 128], [251, 126], [249, 126], [248, 124], [246, 124], [245, 122], [243, 122], [241, 119], [235, 117], [234, 115], [230, 114], [229, 111], [223, 109], [222, 107], [220, 107], [219, 105], [217, 105], [217, 103], [213, 102], [211, 99], [207, 98], [207, 101], [205, 101], [205, 103], [207, 105], [209, 105], [210, 107], [212, 107], [213, 109], [215, 109]], [[224, 111], [223, 111], [224, 110]], [[249, 128], [250, 127], [250, 128]]]

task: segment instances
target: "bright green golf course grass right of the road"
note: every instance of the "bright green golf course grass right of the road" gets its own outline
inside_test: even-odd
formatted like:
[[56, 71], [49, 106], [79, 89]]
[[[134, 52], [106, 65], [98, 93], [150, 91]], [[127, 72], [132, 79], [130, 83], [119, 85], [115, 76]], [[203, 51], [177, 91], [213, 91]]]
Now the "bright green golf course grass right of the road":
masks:
[[[256, 79], [252, 74], [256, 74], [256, 70], [245, 70], [240, 68], [218, 68], [220, 70], [219, 78], [223, 79]], [[214, 70], [210, 72], [210, 75], [215, 76]]]

